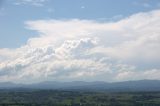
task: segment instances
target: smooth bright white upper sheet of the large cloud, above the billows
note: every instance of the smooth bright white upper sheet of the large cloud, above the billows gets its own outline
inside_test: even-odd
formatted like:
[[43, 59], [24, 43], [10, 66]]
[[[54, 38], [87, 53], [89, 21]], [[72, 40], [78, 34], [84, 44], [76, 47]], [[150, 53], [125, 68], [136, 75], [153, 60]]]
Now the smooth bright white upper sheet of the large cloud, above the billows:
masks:
[[101, 48], [98, 51], [105, 52], [104, 54], [113, 58], [159, 60], [159, 17], [159, 11], [152, 11], [113, 23], [88, 20], [31, 21], [28, 25], [31, 29], [40, 32], [41, 37], [31, 38], [29, 44], [57, 45], [65, 39], [97, 37], [100, 40], [98, 48]]

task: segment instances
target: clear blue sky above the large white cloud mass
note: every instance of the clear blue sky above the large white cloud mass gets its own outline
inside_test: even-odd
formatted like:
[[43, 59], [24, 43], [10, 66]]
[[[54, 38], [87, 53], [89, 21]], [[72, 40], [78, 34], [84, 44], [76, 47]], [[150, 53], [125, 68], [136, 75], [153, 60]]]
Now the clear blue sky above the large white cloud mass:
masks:
[[34, 5], [27, 0], [1, 2], [1, 48], [19, 47], [25, 44], [28, 38], [36, 36], [35, 32], [25, 28], [24, 22], [27, 20], [76, 18], [117, 21], [137, 12], [160, 7], [159, 0], [42, 0], [39, 4]]

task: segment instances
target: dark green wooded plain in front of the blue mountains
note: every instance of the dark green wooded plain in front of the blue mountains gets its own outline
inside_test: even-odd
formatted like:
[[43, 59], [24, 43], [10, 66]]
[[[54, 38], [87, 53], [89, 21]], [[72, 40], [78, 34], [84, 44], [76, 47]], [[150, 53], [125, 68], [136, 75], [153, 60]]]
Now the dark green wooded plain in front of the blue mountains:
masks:
[[0, 106], [160, 106], [160, 92], [1, 90]]

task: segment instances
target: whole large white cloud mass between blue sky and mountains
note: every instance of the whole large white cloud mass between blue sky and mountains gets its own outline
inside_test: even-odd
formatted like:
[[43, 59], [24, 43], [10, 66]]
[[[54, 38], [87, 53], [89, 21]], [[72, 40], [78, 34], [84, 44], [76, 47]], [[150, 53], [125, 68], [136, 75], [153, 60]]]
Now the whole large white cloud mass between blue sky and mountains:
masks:
[[0, 49], [0, 81], [160, 79], [160, 10], [117, 22], [27, 21], [26, 45]]

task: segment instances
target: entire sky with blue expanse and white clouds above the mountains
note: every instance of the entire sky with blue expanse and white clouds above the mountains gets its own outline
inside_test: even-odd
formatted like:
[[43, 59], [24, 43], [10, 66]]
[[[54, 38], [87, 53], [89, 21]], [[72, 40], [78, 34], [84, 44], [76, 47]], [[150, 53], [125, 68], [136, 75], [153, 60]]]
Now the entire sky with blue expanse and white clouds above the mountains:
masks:
[[0, 81], [160, 79], [159, 0], [1, 0]]

